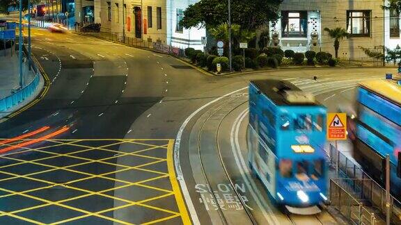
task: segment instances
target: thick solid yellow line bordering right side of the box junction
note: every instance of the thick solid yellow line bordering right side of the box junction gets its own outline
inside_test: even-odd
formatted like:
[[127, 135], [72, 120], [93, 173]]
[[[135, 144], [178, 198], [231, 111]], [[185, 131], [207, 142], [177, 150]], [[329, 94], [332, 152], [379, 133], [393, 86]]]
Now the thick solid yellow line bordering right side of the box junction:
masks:
[[174, 162], [173, 162], [173, 144], [174, 140], [168, 141], [168, 147], [167, 147], [168, 174], [170, 174], [171, 187], [173, 188], [173, 192], [175, 193], [175, 201], [177, 201], [177, 206], [178, 209], [180, 210], [182, 223], [191, 224], [191, 219], [189, 219], [187, 206], [185, 206], [180, 186], [178, 185], [177, 177], [175, 176]]

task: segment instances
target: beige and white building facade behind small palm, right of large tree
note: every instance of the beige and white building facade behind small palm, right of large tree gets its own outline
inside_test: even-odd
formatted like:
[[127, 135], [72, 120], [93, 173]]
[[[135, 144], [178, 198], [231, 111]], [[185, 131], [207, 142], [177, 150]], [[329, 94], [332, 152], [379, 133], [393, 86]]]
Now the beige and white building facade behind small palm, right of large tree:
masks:
[[345, 28], [338, 57], [370, 60], [360, 47], [394, 49], [401, 44], [400, 15], [380, 0], [284, 0], [281, 19], [271, 24], [272, 45], [298, 52], [327, 51], [334, 55], [333, 39], [324, 28]]

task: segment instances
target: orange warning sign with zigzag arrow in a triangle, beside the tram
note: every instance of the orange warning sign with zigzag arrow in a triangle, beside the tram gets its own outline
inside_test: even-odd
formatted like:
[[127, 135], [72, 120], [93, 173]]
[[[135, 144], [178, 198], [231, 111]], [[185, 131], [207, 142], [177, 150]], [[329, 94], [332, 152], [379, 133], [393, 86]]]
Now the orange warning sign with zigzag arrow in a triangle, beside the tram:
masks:
[[347, 140], [346, 113], [327, 113], [327, 140]]

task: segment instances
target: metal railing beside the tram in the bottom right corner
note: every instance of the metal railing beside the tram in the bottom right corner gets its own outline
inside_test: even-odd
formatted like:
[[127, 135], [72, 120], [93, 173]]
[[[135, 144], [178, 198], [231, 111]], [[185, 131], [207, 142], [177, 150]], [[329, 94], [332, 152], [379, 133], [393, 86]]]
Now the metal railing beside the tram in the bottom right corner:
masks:
[[[381, 221], [380, 215], [386, 215], [387, 210], [386, 190], [332, 144], [330, 144], [329, 158], [337, 173], [337, 178], [331, 179], [330, 182], [330, 194], [334, 194], [331, 196], [333, 206], [352, 222], [355, 221], [354, 211], [357, 206], [361, 207], [357, 210], [363, 214], [362, 224], [377, 224]], [[401, 224], [401, 203], [393, 196], [390, 200], [390, 212], [391, 223]], [[369, 218], [375, 218], [375, 220]]]

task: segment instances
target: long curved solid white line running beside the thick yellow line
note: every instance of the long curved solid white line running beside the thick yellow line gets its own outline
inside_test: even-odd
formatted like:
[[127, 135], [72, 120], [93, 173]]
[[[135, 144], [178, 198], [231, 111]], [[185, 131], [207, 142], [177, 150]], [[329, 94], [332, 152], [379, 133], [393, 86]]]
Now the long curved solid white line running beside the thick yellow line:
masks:
[[175, 144], [174, 144], [175, 172], [177, 172], [177, 177], [180, 178], [180, 179], [178, 179], [178, 183], [180, 183], [182, 194], [184, 195], [185, 203], [187, 203], [187, 208], [189, 210], [189, 214], [191, 215], [191, 219], [192, 219], [192, 222], [194, 223], [194, 225], [200, 225], [201, 222], [199, 222], [199, 218], [198, 218], [198, 215], [196, 214], [194, 203], [192, 202], [191, 196], [189, 195], [189, 191], [188, 191], [188, 188], [187, 188], [187, 183], [185, 183], [185, 178], [182, 175], [182, 169], [181, 169], [181, 163], [180, 163], [180, 144], [181, 144], [182, 133], [184, 132], [184, 129], [187, 126], [187, 124], [189, 123], [189, 121], [193, 117], [195, 117], [196, 114], [201, 112], [201, 110], [203, 110], [207, 106], [210, 106], [212, 103], [215, 103], [215, 102], [223, 99], [224, 97], [230, 96], [231, 94], [234, 94], [234, 93], [239, 92], [241, 90], [245, 90], [246, 88], [248, 88], [248, 87], [241, 88], [239, 90], [235, 90], [235, 91], [230, 92], [228, 94], [225, 94], [225, 95], [223, 95], [223, 96], [221, 96], [221, 97], [219, 97], [217, 99], [214, 99], [213, 101], [205, 103], [205, 105], [201, 106], [201, 108], [198, 108], [194, 113], [189, 115], [189, 117], [187, 117], [187, 119], [185, 119], [184, 123], [182, 123], [182, 125], [180, 126], [180, 129], [178, 130], [177, 136], [175, 138]]

